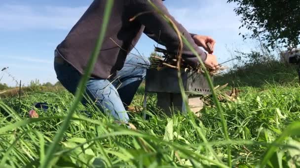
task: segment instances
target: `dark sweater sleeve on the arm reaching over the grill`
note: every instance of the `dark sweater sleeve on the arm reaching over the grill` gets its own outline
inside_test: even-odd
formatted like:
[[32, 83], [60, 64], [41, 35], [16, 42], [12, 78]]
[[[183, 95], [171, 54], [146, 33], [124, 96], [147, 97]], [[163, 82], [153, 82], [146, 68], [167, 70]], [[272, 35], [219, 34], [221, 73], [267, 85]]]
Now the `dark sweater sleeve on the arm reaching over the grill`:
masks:
[[[206, 53], [195, 44], [191, 37], [192, 34], [189, 34], [188, 31], [169, 14], [161, 0], [150, 1], [175, 23], [179, 31], [185, 36], [189, 44], [191, 44], [204, 61], [206, 59]], [[167, 21], [155, 11], [148, 0], [131, 0], [131, 2], [131, 7], [134, 9], [132, 14], [133, 16], [140, 14], [136, 20], [145, 26], [144, 33], [159, 44], [164, 45], [168, 51], [177, 53], [180, 41], [175, 30], [167, 23]], [[183, 59], [193, 67], [196, 67], [199, 64], [198, 58], [192, 54], [186, 44], [183, 46]]]

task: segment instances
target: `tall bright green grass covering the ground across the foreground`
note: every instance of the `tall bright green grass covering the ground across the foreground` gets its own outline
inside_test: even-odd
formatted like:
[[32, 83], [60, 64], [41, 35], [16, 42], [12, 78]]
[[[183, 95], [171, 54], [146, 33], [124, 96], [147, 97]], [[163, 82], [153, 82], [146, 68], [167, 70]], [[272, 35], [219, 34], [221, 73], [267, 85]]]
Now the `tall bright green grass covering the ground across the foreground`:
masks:
[[[130, 108], [137, 130], [118, 126], [93, 107], [80, 105], [50, 164], [78, 168], [227, 167], [231, 159], [231, 167], [239, 168], [300, 167], [298, 76], [293, 68], [278, 64], [270, 68], [273, 70], [264, 73], [252, 68], [252, 73], [239, 71], [216, 78], [216, 84], [229, 83], [241, 90], [235, 102], [221, 103], [230, 140], [224, 138], [212, 102], [199, 118], [191, 113], [168, 118], [157, 109], [152, 95], [148, 101], [152, 116], [144, 120], [141, 87]], [[274, 71], [276, 68], [281, 70]], [[17, 96], [1, 99], [0, 167], [39, 167], [73, 98], [59, 90], [26, 92], [20, 100]], [[46, 112], [37, 110], [39, 118], [30, 118], [35, 102], [53, 107]], [[92, 116], [85, 115], [85, 110]]]

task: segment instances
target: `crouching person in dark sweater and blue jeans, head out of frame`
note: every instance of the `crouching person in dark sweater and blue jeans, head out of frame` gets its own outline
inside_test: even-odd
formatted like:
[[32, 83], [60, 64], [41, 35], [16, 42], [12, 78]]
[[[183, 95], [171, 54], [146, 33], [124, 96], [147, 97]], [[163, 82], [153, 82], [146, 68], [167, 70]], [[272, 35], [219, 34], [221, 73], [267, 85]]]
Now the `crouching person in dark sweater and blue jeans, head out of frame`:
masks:
[[[216, 56], [206, 54], [198, 48], [201, 46], [207, 49], [207, 42], [214, 46], [212, 38], [189, 34], [171, 17], [162, 0], [150, 1], [175, 22], [207, 66], [214, 68], [218, 65]], [[57, 78], [73, 94], [95, 47], [106, 2], [107, 0], [94, 0], [55, 51], [54, 68]], [[137, 17], [131, 20], [135, 16]], [[164, 45], [167, 50], [177, 52], [179, 38], [176, 32], [155, 12], [148, 0], [115, 0], [100, 55], [86, 85], [87, 97], [102, 112], [109, 112], [122, 122], [129, 119], [127, 106], [145, 78], [146, 67], [149, 65], [147, 58], [127, 56], [143, 32]], [[193, 67], [199, 65], [197, 57], [188, 50], [187, 45], [183, 47], [183, 59]], [[87, 99], [82, 103], [86, 105]]]

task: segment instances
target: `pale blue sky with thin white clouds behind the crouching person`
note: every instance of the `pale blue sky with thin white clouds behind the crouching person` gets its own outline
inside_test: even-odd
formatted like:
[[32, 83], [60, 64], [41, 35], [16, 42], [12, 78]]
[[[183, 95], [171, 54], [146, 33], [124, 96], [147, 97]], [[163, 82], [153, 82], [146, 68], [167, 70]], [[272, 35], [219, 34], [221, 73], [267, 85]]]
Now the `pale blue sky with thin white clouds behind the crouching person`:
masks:
[[[230, 58], [229, 50], [249, 51], [249, 44], [238, 35], [239, 17], [227, 0], [166, 0], [169, 12], [189, 32], [216, 39], [219, 62]], [[53, 69], [56, 46], [84, 13], [92, 0], [0, 0], [0, 68], [16, 80], [28, 84], [57, 82]], [[145, 56], [153, 51], [154, 41], [143, 36], [136, 48]], [[133, 51], [133, 53], [136, 53]], [[7, 73], [0, 83], [14, 86]]]

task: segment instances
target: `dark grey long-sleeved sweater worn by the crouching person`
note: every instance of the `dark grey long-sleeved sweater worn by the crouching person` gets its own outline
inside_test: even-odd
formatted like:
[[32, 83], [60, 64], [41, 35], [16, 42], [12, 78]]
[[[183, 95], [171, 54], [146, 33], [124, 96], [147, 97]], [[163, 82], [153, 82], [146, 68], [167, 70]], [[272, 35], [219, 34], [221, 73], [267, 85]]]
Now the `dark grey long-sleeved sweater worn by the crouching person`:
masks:
[[[106, 1], [94, 0], [57, 47], [60, 55], [81, 74], [95, 47]], [[205, 60], [206, 54], [197, 47], [191, 34], [169, 14], [162, 1], [151, 0], [151, 2], [175, 22], [188, 42]], [[129, 21], [142, 12], [146, 13], [133, 21]], [[176, 32], [160, 14], [155, 12], [148, 0], [114, 0], [105, 40], [91, 76], [101, 79], [112, 77], [116, 71], [123, 67], [126, 56], [136, 45], [143, 32], [164, 45], [168, 51], [177, 53], [179, 39]], [[183, 59], [191, 66], [198, 65], [198, 59], [188, 50], [186, 45], [183, 48]]]

